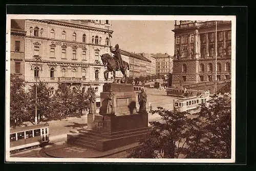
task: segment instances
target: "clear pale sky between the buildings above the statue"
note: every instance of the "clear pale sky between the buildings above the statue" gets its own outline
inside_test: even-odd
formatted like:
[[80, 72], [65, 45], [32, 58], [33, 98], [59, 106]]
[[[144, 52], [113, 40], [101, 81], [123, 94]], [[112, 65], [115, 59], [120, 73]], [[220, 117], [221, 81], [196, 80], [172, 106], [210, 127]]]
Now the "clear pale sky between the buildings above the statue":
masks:
[[112, 20], [111, 46], [135, 53], [174, 55], [172, 20]]

